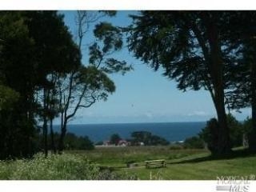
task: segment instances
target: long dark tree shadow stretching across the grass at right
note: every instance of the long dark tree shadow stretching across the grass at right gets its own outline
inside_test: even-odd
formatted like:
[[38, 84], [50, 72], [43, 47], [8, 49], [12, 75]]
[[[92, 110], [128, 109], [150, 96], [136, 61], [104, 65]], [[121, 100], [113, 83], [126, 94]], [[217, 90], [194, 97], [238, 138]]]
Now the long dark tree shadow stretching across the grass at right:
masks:
[[183, 163], [197, 163], [197, 162], [208, 162], [208, 161], [216, 161], [216, 160], [228, 160], [233, 158], [248, 158], [255, 156], [255, 153], [251, 153], [247, 149], [243, 150], [233, 150], [230, 152], [230, 154], [226, 155], [212, 155], [201, 158], [193, 158], [193, 159], [187, 159], [182, 160], [179, 162], [167, 162], [166, 164], [173, 165], [173, 164], [183, 164]]

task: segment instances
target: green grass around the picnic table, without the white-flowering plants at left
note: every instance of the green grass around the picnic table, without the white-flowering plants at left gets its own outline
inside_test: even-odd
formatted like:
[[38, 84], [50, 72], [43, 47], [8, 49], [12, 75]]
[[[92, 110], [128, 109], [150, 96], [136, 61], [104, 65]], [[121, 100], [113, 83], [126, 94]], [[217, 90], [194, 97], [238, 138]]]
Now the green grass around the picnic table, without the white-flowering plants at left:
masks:
[[[117, 173], [134, 174], [138, 179], [216, 179], [218, 176], [249, 176], [256, 174], [256, 155], [236, 150], [227, 158], [211, 158], [207, 150], [171, 150], [168, 146], [105, 147], [86, 155], [92, 162]], [[166, 159], [166, 168], [145, 167], [146, 160]], [[127, 168], [133, 161], [136, 167]]]

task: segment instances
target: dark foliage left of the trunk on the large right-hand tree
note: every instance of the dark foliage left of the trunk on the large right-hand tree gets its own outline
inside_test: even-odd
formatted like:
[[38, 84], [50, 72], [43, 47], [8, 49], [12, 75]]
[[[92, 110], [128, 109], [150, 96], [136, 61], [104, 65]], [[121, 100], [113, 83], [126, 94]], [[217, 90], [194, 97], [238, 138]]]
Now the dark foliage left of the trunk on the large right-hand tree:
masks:
[[162, 66], [164, 75], [178, 82], [179, 90], [199, 90], [206, 86], [204, 79], [209, 74], [198, 47], [201, 44], [193, 35], [192, 22], [198, 20], [197, 27], [201, 27], [199, 15], [178, 11], [141, 11], [132, 15], [129, 49], [154, 70]]

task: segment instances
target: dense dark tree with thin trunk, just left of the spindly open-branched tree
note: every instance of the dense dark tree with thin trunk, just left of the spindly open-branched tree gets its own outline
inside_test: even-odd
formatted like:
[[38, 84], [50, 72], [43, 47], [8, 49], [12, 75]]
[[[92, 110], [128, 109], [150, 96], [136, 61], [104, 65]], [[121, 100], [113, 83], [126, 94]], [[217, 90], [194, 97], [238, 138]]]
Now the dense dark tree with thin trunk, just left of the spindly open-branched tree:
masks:
[[[78, 69], [81, 62], [80, 52], [57, 11], [32, 11], [25, 13], [30, 36], [34, 39], [38, 74], [37, 86], [42, 92], [42, 122], [44, 150], [47, 155], [48, 122], [52, 122], [56, 92], [57, 75], [65, 75]], [[43, 31], [43, 33], [42, 33]], [[51, 130], [52, 132], [52, 130]], [[53, 137], [53, 134], [51, 134]], [[51, 139], [53, 142], [54, 139]]]

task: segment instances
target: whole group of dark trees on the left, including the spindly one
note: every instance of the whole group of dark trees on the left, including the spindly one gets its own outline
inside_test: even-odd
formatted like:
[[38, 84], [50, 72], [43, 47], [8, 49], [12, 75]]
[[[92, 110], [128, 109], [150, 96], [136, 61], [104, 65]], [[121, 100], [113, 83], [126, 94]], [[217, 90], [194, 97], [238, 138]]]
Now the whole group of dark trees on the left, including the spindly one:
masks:
[[[57, 11], [0, 12], [0, 158], [30, 157], [40, 133], [46, 156], [48, 134], [53, 152], [62, 153], [67, 124], [77, 111], [114, 92], [107, 74], [131, 69], [111, 58], [122, 48], [121, 30], [98, 22], [114, 14], [78, 11], [73, 37]], [[96, 22], [85, 55], [83, 42]], [[61, 122], [57, 142], [54, 118]]]

